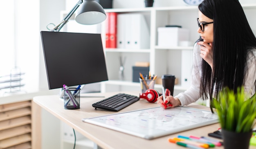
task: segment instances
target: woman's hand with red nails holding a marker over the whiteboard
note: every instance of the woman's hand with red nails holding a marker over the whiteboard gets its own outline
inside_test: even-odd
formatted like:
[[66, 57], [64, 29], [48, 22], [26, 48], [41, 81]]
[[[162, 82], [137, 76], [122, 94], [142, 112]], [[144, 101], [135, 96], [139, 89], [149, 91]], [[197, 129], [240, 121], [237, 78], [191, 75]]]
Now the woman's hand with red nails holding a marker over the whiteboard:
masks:
[[166, 104], [166, 108], [171, 108], [171, 107], [177, 107], [180, 106], [180, 100], [179, 99], [175, 99], [173, 96], [166, 96], [165, 97], [165, 103], [163, 101], [163, 96], [159, 96], [157, 98], [157, 104], [160, 105], [160, 107], [165, 108], [165, 104]]

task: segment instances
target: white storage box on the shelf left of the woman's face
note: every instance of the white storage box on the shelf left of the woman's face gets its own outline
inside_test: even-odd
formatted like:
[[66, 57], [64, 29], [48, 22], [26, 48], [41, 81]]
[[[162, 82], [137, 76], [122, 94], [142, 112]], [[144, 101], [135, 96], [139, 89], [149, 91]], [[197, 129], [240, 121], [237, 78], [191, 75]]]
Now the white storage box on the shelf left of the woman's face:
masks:
[[180, 27], [159, 27], [158, 46], [179, 46], [180, 41], [189, 41], [189, 29]]

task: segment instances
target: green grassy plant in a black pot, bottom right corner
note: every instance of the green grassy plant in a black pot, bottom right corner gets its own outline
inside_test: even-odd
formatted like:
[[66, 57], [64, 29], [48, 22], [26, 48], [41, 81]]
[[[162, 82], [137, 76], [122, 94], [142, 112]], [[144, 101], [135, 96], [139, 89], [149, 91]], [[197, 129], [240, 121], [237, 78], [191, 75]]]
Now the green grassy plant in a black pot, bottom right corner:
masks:
[[249, 97], [243, 87], [237, 93], [224, 88], [211, 104], [217, 110], [224, 148], [248, 149], [255, 125], [256, 94]]

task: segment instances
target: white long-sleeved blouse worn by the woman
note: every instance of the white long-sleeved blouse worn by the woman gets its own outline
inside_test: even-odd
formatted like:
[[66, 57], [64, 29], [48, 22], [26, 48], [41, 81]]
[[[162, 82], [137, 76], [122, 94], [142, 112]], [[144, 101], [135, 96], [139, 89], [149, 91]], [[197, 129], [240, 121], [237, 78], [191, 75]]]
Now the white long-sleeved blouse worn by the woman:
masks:
[[[200, 98], [200, 79], [202, 58], [200, 57], [200, 45], [194, 44], [193, 48], [193, 67], [191, 72], [191, 86], [185, 92], [182, 92], [175, 96], [180, 99], [181, 106], [188, 105], [197, 101]], [[249, 53], [247, 59], [248, 74], [245, 76], [245, 92], [251, 94], [255, 93], [255, 81], [256, 81], [256, 49], [253, 50], [253, 54]]]

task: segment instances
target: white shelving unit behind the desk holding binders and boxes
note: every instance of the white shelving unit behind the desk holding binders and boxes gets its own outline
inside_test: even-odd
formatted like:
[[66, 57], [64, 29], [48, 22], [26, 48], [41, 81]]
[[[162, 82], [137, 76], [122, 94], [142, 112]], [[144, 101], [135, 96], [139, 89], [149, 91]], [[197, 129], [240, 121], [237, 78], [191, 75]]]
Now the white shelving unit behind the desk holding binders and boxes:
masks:
[[[252, 4], [242, 4], [243, 9], [247, 15], [249, 24], [251, 25], [254, 34], [256, 35], [256, 2]], [[195, 42], [199, 38], [197, 33], [198, 7], [184, 6], [184, 7], [148, 7], [148, 8], [131, 8], [131, 9], [105, 9], [106, 13], [140, 13], [146, 18], [148, 27], [150, 28], [150, 48], [149, 49], [119, 49], [119, 48], [104, 48], [106, 56], [106, 65], [108, 70], [109, 81], [101, 83], [101, 92], [121, 92], [141, 90], [140, 84], [132, 82], [132, 66], [136, 61], [149, 61], [151, 74], [157, 75], [160, 78], [164, 74], [175, 75], [179, 79], [179, 83], [174, 87], [174, 95], [183, 92], [187, 89], [186, 86], [181, 85], [182, 76], [182, 50], [193, 50], [193, 46], [178, 46], [178, 47], [159, 47], [157, 46], [157, 28], [165, 25], [181, 25], [182, 28], [188, 28], [190, 31], [189, 40]], [[64, 18], [68, 12], [61, 12], [61, 18]], [[74, 20], [74, 17], [70, 18]], [[238, 20], [239, 21], [239, 20]], [[67, 23], [68, 25], [68, 23]], [[103, 47], [105, 47], [105, 22], [101, 23], [101, 37]], [[65, 26], [64, 26], [65, 28]], [[192, 55], [191, 55], [192, 56]], [[119, 58], [126, 57], [124, 64], [125, 81], [119, 80]], [[191, 64], [188, 64], [191, 65]], [[161, 91], [162, 85], [156, 84], [155, 89]], [[80, 139], [79, 139], [80, 140]], [[81, 142], [86, 142], [86, 145], [92, 148], [92, 142], [87, 142], [86, 138]], [[74, 142], [70, 140], [63, 140], [65, 145], [72, 145]], [[65, 149], [66, 147], [63, 147]]]

